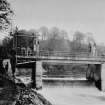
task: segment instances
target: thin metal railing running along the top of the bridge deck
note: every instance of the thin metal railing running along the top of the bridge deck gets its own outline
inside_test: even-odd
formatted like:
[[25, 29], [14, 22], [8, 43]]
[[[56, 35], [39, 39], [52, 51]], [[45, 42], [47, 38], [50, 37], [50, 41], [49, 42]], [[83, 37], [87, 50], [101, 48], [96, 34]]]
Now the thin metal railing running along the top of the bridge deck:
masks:
[[101, 54], [98, 55], [92, 55], [88, 51], [79, 51], [79, 52], [65, 52], [65, 51], [45, 51], [40, 50], [39, 52], [21, 52], [17, 51], [17, 56], [45, 56], [45, 57], [82, 57], [82, 58], [105, 58], [105, 56], [101, 56]]

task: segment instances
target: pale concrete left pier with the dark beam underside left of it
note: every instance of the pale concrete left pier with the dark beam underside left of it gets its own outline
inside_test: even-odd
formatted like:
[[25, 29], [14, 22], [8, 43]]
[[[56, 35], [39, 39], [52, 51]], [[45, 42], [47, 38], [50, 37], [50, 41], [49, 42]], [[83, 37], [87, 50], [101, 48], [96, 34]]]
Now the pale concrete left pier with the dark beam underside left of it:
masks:
[[16, 68], [31, 68], [31, 81], [32, 87], [36, 89], [42, 88], [42, 62], [41, 61], [31, 61], [18, 63]]

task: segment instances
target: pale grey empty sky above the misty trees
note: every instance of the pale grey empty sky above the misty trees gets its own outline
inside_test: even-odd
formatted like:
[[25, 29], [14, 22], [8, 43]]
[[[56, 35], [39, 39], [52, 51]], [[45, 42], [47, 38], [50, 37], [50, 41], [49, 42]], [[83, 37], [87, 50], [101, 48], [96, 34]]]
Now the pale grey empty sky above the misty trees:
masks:
[[15, 12], [14, 24], [19, 29], [41, 26], [93, 33], [105, 44], [105, 0], [8, 0]]

